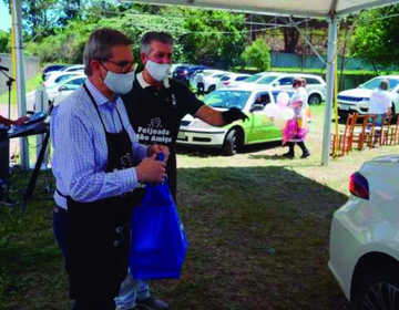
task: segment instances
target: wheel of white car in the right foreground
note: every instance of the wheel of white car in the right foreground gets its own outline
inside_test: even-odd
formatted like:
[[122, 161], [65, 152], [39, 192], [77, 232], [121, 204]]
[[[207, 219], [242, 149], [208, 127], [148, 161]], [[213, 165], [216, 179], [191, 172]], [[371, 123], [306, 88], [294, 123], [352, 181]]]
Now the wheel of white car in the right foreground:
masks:
[[379, 269], [368, 276], [360, 288], [356, 309], [399, 309], [399, 277], [397, 270]]

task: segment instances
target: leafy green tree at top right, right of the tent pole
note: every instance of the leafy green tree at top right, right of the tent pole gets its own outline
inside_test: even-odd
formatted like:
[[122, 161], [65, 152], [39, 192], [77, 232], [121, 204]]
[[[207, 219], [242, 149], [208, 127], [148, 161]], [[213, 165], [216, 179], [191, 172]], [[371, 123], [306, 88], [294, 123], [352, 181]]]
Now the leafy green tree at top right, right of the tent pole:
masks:
[[[354, 56], [367, 59], [375, 65], [399, 64], [399, 6], [364, 12], [351, 45]], [[389, 16], [395, 16], [389, 18]]]

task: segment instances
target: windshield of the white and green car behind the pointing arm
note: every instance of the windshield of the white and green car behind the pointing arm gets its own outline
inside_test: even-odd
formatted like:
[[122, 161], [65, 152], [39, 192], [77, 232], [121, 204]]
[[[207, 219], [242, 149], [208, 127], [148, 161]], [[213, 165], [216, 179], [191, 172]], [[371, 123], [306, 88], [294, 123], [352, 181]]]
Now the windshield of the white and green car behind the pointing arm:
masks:
[[238, 107], [239, 110], [243, 110], [249, 95], [250, 92], [248, 91], [221, 90], [208, 94], [204, 97], [204, 102], [212, 107]]

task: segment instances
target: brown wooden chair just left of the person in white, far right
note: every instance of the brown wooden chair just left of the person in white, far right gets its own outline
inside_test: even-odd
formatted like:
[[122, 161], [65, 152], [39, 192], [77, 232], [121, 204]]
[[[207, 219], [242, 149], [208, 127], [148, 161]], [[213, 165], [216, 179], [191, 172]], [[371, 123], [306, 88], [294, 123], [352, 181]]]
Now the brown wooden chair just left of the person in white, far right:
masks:
[[[376, 124], [376, 116], [369, 114], [358, 114], [354, 124], [351, 143], [357, 143], [358, 149], [362, 151], [365, 145], [371, 146], [371, 135]], [[352, 146], [350, 145], [349, 149]]]

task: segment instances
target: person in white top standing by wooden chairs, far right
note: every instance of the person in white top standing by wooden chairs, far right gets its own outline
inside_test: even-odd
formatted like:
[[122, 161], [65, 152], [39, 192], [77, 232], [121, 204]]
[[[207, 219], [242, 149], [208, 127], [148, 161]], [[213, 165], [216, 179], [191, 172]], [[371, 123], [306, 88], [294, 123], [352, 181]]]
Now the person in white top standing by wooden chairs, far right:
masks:
[[[370, 96], [370, 107], [369, 107], [369, 114], [376, 115], [375, 125], [378, 127], [381, 127], [383, 123], [383, 118], [387, 115], [392, 114], [392, 100], [390, 97], [389, 92], [389, 81], [387, 79], [383, 79], [379, 86], [372, 91]], [[370, 118], [369, 122], [371, 123], [372, 120]], [[376, 131], [375, 134], [375, 141], [374, 141], [374, 147], [377, 146], [377, 142], [380, 137], [380, 131]]]

